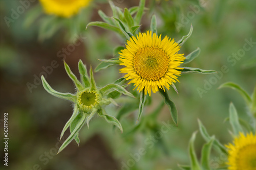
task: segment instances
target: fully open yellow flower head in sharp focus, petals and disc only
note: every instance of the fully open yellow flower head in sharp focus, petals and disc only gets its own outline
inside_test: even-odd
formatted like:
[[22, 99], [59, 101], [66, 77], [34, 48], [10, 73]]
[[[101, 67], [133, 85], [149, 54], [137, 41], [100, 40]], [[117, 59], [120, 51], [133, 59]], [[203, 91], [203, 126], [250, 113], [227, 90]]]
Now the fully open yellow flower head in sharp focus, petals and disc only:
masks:
[[179, 50], [179, 44], [167, 36], [161, 40], [156, 33], [153, 36], [149, 31], [139, 33], [127, 40], [126, 48], [119, 53], [120, 65], [125, 66], [120, 72], [126, 74], [126, 80], [132, 79], [129, 84], [134, 83], [139, 92], [144, 89], [145, 94], [151, 95], [151, 90], [155, 93], [159, 88], [169, 89], [169, 85], [178, 81], [181, 74], [178, 69], [183, 69], [179, 65], [185, 58], [178, 54]]

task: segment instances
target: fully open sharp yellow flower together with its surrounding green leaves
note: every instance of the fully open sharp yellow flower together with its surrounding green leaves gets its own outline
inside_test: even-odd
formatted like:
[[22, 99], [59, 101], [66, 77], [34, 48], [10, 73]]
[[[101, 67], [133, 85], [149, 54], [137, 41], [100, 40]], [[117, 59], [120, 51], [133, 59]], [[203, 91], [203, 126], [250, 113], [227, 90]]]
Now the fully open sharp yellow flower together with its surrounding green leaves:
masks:
[[[126, 37], [126, 46], [117, 47], [114, 54], [120, 56], [110, 60], [100, 60], [100, 63], [95, 71], [108, 68], [112, 65], [123, 65], [120, 72], [125, 74], [123, 78], [130, 80], [129, 84], [133, 83], [135, 88], [140, 92], [139, 114], [140, 119], [143, 107], [146, 101], [146, 94], [151, 95], [151, 92], [157, 91], [163, 96], [165, 103], [168, 105], [174, 123], [178, 125], [178, 113], [176, 106], [169, 98], [168, 90], [172, 86], [178, 93], [175, 82], [181, 74], [199, 73], [199, 74], [214, 74], [214, 70], [203, 70], [200, 68], [181, 67], [181, 64], [189, 63], [200, 54], [200, 48], [191, 52], [184, 57], [179, 54], [181, 46], [191, 36], [193, 27], [186, 36], [183, 36], [179, 41], [170, 39], [165, 36], [161, 39], [161, 35], [157, 33], [157, 20], [153, 15], [151, 19], [150, 31], [141, 33], [139, 30], [141, 17], [144, 11], [145, 0], [141, 0], [139, 7], [131, 9], [122, 9], [114, 6], [110, 1], [113, 11], [113, 17], [106, 16], [102, 11], [99, 15], [105, 22], [90, 22], [88, 26], [97, 26], [111, 31], [115, 31], [122, 37]], [[136, 13], [136, 14], [135, 14]], [[132, 15], [134, 15], [132, 17]], [[165, 90], [167, 88], [167, 90]]]

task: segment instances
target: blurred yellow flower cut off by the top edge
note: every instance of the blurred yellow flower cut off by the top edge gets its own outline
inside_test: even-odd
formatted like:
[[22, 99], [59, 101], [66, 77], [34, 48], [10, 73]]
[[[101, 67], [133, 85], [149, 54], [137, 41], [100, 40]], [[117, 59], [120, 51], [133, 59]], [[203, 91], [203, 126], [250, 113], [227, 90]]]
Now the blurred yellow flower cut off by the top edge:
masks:
[[87, 7], [91, 0], [39, 0], [47, 14], [70, 17], [82, 7]]

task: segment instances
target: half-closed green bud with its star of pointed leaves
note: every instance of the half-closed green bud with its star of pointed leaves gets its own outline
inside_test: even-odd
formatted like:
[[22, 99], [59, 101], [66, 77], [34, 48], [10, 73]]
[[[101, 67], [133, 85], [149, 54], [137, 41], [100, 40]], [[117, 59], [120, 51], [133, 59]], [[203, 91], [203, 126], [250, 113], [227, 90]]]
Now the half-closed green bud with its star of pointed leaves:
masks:
[[74, 105], [74, 112], [64, 126], [60, 135], [60, 139], [68, 128], [70, 128], [71, 134], [65, 140], [65, 142], [63, 142], [59, 148], [58, 153], [66, 148], [73, 139], [75, 139], [79, 145], [79, 131], [84, 124], [87, 124], [89, 128], [89, 122], [96, 113], [100, 117], [103, 117], [106, 122], [117, 126], [122, 132], [122, 126], [119, 121], [115, 117], [108, 115], [104, 110], [104, 107], [111, 103], [117, 105], [113, 99], [116, 99], [118, 96], [120, 96], [121, 93], [134, 97], [133, 94], [126, 91], [122, 86], [118, 84], [108, 84], [102, 88], [98, 88], [94, 80], [92, 67], [90, 69], [89, 77], [87, 74], [87, 68], [81, 60], [78, 62], [80, 81], [78, 81], [66, 62], [64, 62], [64, 65], [67, 74], [76, 86], [77, 92], [75, 94], [57, 92], [52, 89], [51, 86], [46, 82], [44, 76], [41, 77], [42, 85], [47, 92], [58, 98], [69, 100], [73, 102]]

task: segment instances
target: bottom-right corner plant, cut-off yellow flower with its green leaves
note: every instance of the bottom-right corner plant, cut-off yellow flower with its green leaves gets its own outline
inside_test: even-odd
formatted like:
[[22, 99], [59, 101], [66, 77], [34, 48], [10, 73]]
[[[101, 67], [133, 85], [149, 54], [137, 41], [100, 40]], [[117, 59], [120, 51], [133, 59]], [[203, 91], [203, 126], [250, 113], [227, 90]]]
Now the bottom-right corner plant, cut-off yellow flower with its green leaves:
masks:
[[210, 167], [209, 155], [212, 147], [221, 154], [226, 155], [227, 159], [224, 162], [225, 165], [218, 165], [219, 169], [229, 169], [229, 170], [240, 170], [240, 169], [256, 169], [256, 125], [255, 125], [255, 107], [256, 107], [256, 86], [252, 95], [249, 95], [243, 88], [239, 85], [227, 82], [220, 86], [220, 88], [230, 87], [234, 90], [237, 90], [244, 100], [246, 101], [250, 122], [247, 122], [239, 117], [237, 109], [231, 103], [229, 106], [229, 117], [226, 120], [229, 120], [229, 123], [232, 127], [230, 134], [233, 137], [232, 143], [221, 144], [215, 136], [210, 136], [199, 120], [199, 129], [201, 135], [206, 140], [206, 144], [203, 147], [201, 155], [201, 164], [199, 164], [195, 149], [194, 149], [194, 140], [195, 133], [190, 139], [189, 144], [189, 156], [190, 156], [190, 166], [182, 166], [182, 169], [216, 169], [216, 167]]

